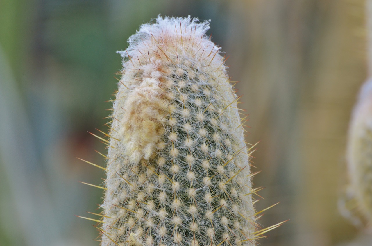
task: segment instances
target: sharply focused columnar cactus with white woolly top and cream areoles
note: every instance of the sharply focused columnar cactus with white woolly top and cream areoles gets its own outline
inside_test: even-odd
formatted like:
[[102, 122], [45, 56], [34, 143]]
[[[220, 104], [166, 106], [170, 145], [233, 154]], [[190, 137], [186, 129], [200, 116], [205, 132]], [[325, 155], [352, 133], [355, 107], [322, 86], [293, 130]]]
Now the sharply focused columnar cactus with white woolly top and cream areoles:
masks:
[[256, 245], [237, 96], [208, 29], [158, 17], [119, 52], [102, 246]]

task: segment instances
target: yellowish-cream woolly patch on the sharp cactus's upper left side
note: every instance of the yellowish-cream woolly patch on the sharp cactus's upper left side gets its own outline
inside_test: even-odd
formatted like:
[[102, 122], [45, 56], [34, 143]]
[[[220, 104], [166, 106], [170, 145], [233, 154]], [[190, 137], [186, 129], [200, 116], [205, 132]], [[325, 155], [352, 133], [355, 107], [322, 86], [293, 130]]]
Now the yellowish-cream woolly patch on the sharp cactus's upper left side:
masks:
[[124, 111], [118, 119], [118, 138], [135, 164], [153, 154], [156, 143], [164, 134], [161, 120], [167, 113], [159, 78], [141, 79], [137, 87], [127, 93], [126, 100], [119, 100], [115, 105]]

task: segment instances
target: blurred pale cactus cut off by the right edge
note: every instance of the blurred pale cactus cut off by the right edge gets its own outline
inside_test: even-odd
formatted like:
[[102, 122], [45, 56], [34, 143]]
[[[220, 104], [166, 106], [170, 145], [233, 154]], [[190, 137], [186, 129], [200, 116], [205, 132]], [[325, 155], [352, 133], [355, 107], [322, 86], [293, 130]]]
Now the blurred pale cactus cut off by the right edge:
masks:
[[341, 194], [341, 214], [357, 227], [372, 228], [372, 0], [365, 2], [369, 78], [360, 87], [350, 117], [346, 146], [349, 184]]

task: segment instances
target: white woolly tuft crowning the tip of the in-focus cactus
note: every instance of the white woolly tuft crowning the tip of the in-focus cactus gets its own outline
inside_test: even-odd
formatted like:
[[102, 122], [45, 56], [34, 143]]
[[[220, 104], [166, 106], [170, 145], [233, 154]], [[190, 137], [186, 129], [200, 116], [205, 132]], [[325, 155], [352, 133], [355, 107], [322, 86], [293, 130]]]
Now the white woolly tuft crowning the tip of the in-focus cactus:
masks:
[[[172, 60], [177, 60], [175, 59], [177, 55], [186, 55], [186, 53], [194, 53], [202, 55], [202, 57], [218, 54], [220, 48], [211, 42], [210, 37], [206, 36], [206, 31], [210, 28], [209, 23], [210, 20], [199, 22], [198, 18], [191, 18], [190, 16], [158, 16], [155, 23], [142, 24], [137, 33], [128, 39], [128, 48], [125, 51], [118, 51], [124, 58], [123, 69], [129, 65], [126, 58], [141, 54], [147, 55], [147, 52], [154, 51], [154, 48], [158, 49], [159, 47], [165, 48], [168, 51], [168, 58]], [[182, 45], [182, 42], [191, 40], [193, 41], [192, 45], [187, 44], [187, 47]], [[186, 49], [183, 50], [182, 48]], [[162, 50], [161, 52], [165, 51]], [[186, 56], [183, 58], [190, 59]], [[211, 62], [221, 65], [221, 59], [212, 59]], [[193, 65], [198, 66], [199, 64], [195, 63]]]

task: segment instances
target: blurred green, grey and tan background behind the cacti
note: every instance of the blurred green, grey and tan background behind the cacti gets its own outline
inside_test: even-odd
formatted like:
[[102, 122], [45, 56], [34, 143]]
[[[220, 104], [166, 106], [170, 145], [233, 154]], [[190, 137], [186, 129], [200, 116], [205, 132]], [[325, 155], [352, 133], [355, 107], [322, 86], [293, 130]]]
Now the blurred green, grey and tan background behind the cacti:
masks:
[[[117, 50], [158, 14], [211, 19], [240, 107], [247, 141], [261, 140], [256, 187], [278, 201], [260, 221], [291, 219], [263, 246], [372, 245], [340, 216], [352, 106], [366, 78], [363, 0], [1, 0], [0, 245], [99, 245], [104, 173], [87, 131], [106, 130], [121, 68]], [[364, 243], [363, 243], [364, 240]]]

